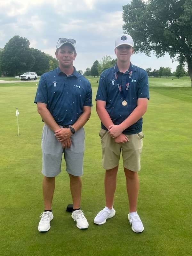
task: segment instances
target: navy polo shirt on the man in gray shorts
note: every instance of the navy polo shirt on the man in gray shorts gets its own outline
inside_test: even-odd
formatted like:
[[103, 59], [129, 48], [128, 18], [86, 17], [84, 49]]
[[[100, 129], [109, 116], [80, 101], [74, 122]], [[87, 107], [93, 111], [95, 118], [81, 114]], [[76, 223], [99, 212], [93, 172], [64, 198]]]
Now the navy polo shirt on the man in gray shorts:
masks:
[[92, 106], [91, 84], [75, 67], [70, 76], [58, 67], [41, 76], [34, 102], [46, 103], [57, 124], [74, 124], [83, 107]]

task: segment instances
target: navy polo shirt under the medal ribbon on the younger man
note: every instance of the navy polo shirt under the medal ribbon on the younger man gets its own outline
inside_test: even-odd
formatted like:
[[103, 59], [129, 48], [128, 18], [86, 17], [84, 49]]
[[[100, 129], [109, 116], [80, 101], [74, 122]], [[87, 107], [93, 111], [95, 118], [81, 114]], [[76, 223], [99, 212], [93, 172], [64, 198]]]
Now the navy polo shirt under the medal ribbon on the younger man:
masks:
[[[149, 99], [148, 89], [148, 74], [147, 72], [137, 66], [130, 64], [132, 69], [132, 77], [128, 90], [125, 91], [125, 85], [128, 82], [129, 70], [125, 73], [119, 71], [117, 65], [108, 68], [100, 75], [99, 87], [95, 100], [106, 101], [106, 110], [111, 117], [113, 124], [121, 124], [137, 107], [137, 100], [139, 98]], [[118, 82], [121, 84], [122, 90], [125, 91], [125, 100], [127, 105], [123, 106], [123, 96], [119, 92], [115, 73], [118, 76]], [[108, 130], [102, 123], [101, 128]], [[135, 134], [142, 131], [142, 118], [135, 124], [132, 124], [124, 134]]]

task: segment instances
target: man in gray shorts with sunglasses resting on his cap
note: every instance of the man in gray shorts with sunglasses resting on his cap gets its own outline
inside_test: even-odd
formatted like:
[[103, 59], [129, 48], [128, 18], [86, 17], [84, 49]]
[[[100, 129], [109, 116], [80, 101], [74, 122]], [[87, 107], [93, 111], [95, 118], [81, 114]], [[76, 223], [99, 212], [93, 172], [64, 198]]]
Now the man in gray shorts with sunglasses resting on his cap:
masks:
[[74, 39], [59, 38], [55, 55], [59, 67], [41, 76], [35, 98], [38, 112], [45, 123], [42, 133], [45, 210], [38, 225], [40, 232], [51, 228], [55, 176], [61, 172], [63, 152], [73, 199], [71, 217], [78, 228], [85, 229], [89, 226], [84, 212], [80, 209], [80, 176], [83, 174], [83, 125], [91, 115], [91, 84], [73, 66], [76, 58]]

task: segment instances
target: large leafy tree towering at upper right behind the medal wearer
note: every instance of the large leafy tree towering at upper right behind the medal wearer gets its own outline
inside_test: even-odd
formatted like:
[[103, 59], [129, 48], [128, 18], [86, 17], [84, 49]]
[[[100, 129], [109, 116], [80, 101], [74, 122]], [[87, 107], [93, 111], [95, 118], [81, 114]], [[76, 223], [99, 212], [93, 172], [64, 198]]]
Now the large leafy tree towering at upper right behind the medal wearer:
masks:
[[192, 85], [191, 0], [132, 0], [123, 6], [123, 28], [135, 41], [135, 51], [157, 57], [168, 52], [187, 63]]

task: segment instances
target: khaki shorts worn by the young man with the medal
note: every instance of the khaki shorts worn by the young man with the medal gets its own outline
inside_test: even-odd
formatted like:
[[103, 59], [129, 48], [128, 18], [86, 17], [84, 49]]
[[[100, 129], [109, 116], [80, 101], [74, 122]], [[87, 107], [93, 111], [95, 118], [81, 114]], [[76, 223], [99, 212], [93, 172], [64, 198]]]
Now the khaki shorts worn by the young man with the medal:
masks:
[[119, 164], [122, 151], [124, 167], [133, 172], [140, 171], [140, 156], [143, 147], [143, 132], [125, 134], [129, 141], [125, 144], [116, 143], [108, 133], [101, 129], [99, 136], [102, 146], [102, 165], [106, 170], [115, 168]]

